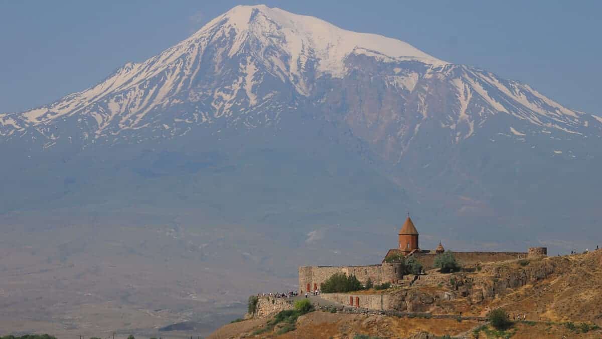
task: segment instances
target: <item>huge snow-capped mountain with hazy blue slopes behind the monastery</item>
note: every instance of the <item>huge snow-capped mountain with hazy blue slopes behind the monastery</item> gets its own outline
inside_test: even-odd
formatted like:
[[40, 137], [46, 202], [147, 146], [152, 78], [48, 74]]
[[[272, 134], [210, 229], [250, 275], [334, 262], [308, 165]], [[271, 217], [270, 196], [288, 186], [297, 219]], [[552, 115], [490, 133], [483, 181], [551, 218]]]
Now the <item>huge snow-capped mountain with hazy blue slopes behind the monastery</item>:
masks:
[[0, 206], [178, 201], [220, 222], [305, 225], [394, 224], [404, 204], [435, 229], [554, 234], [566, 218], [599, 227], [601, 136], [602, 118], [529, 85], [238, 6], [87, 90], [0, 114], [14, 192]]

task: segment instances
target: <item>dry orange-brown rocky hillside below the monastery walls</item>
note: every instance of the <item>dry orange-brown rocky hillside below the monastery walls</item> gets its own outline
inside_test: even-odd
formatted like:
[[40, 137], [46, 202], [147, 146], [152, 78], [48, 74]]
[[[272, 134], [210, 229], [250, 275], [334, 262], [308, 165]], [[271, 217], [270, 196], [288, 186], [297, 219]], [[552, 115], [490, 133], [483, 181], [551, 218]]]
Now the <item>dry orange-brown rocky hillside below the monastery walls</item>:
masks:
[[[474, 269], [476, 267], [480, 268]], [[347, 308], [330, 313], [325, 308], [300, 317], [294, 331], [282, 335], [268, 332], [257, 337], [353, 338], [356, 334], [367, 334], [382, 338], [434, 338], [427, 335], [430, 334], [484, 338], [492, 335], [492, 329], [478, 317], [485, 317], [495, 308], [504, 308], [511, 317], [526, 315], [527, 321], [515, 322], [506, 331], [512, 338], [560, 338], [562, 335], [599, 338], [602, 335], [596, 328], [602, 326], [602, 295], [598, 293], [602, 286], [602, 250], [465, 268], [474, 269], [474, 272], [442, 274], [432, 271], [428, 275], [432, 276], [433, 282], [445, 283], [419, 284], [384, 292], [389, 298], [397, 296], [398, 299], [400, 295], [421, 294], [420, 301], [415, 302], [423, 307], [418, 307], [414, 316], [404, 314], [399, 317], [386, 311], [377, 314], [377, 311]], [[437, 298], [441, 293], [447, 293], [448, 298]], [[429, 296], [434, 302], [428, 300]], [[273, 311], [272, 316], [277, 310]], [[436, 319], [437, 314], [448, 314], [451, 319]], [[462, 321], [456, 319], [460, 314]], [[268, 319], [270, 316], [253, 317], [225, 325], [209, 338], [254, 337], [250, 334], [265, 326]], [[587, 331], [580, 329], [583, 323], [588, 324]]]

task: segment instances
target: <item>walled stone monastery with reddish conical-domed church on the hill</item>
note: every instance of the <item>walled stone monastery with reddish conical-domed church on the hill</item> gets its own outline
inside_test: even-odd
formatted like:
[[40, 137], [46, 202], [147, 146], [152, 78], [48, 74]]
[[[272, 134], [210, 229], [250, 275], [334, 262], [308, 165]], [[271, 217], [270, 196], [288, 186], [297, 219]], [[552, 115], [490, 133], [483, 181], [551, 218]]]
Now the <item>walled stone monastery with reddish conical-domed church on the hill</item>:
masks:
[[[389, 249], [388, 255], [399, 253], [406, 257], [413, 256], [423, 265], [425, 269], [433, 268], [435, 255], [444, 252], [445, 249], [439, 243], [435, 250], [421, 249], [418, 245], [418, 230], [414, 222], [408, 216], [399, 231], [399, 246]], [[491, 261], [514, 260], [532, 255], [547, 255], [547, 248], [529, 248], [529, 252], [455, 252], [454, 256], [463, 265], [486, 263]], [[355, 275], [362, 284], [368, 278], [374, 284], [397, 283], [403, 280], [403, 267], [401, 263], [387, 263], [383, 258], [382, 263], [364, 266], [300, 266], [299, 267], [299, 289], [302, 292], [317, 290], [320, 284], [330, 278], [334, 273], [344, 272], [347, 275]]]

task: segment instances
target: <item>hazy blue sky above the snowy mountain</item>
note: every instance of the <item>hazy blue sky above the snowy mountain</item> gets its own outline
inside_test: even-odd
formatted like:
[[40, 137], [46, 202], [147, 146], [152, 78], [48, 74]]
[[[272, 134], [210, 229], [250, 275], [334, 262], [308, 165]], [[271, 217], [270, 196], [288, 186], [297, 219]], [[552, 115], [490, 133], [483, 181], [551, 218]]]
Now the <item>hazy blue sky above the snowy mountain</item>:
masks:
[[602, 114], [602, 1], [0, 0], [0, 112], [50, 103], [143, 61], [237, 4], [399, 38]]

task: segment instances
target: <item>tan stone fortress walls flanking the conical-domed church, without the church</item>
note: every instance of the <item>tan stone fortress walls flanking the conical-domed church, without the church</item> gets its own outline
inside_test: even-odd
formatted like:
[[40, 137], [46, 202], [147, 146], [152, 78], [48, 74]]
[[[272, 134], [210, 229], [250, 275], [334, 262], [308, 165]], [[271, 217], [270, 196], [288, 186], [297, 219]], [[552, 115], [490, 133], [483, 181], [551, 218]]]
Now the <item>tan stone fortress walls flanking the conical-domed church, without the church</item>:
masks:
[[[453, 252], [453, 254], [462, 266], [471, 266], [477, 263], [517, 260], [547, 255], [547, 248], [530, 248], [528, 252]], [[433, 261], [435, 260], [435, 253], [414, 253], [412, 255], [423, 264], [424, 269], [428, 270], [434, 268]], [[334, 275], [334, 273], [338, 272], [343, 272], [347, 275], [355, 275], [362, 284], [365, 284], [368, 281], [368, 278], [370, 278], [374, 284], [396, 283], [403, 279], [402, 265], [396, 263], [364, 266], [300, 266], [299, 290], [302, 293], [305, 293], [320, 289], [321, 283]]]

